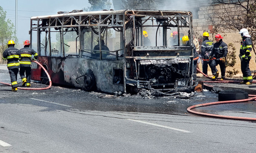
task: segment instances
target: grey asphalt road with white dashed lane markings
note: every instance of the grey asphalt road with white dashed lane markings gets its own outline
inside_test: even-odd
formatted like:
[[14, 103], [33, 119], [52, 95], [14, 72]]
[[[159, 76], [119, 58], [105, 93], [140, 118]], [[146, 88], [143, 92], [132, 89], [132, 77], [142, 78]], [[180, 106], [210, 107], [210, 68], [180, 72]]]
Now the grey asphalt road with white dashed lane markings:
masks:
[[[9, 83], [7, 70], [0, 70], [0, 81]], [[35, 86], [43, 85], [32, 83]], [[0, 92], [0, 152], [4, 153], [256, 150], [256, 122], [187, 113], [191, 105], [217, 101], [217, 94], [209, 91], [190, 99], [142, 99], [134, 95], [109, 99], [99, 97], [104, 93], [56, 86], [12, 92], [11, 87], [0, 85]], [[249, 102], [197, 110], [256, 117], [255, 107]]]

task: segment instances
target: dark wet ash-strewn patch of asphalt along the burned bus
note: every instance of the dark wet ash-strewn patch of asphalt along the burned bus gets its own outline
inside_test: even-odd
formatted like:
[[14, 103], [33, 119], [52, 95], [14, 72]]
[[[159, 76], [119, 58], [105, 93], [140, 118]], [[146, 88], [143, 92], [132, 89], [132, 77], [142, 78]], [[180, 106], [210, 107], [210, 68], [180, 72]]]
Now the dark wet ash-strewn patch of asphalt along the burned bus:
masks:
[[[39, 83], [32, 83], [31, 87], [46, 87]], [[146, 96], [134, 94], [126, 96], [114, 96], [101, 92], [87, 92], [80, 89], [71, 89], [66, 87], [52, 86], [48, 90], [18, 92], [26, 93], [27, 96], [32, 95], [36, 99], [54, 101], [56, 103], [73, 106], [77, 110], [98, 110], [98, 111], [124, 111], [124, 112], [145, 112], [145, 113], [179, 113], [186, 114], [187, 107], [212, 101], [217, 101], [217, 94], [204, 90], [201, 93], [174, 93], [170, 96], [158, 92], [158, 90], [143, 90]], [[150, 94], [150, 95], [148, 95]], [[156, 96], [157, 95], [157, 96]], [[189, 99], [181, 99], [179, 97], [190, 96]], [[102, 98], [107, 97], [107, 98]], [[110, 98], [109, 98], [110, 97]], [[113, 99], [112, 97], [115, 97]], [[146, 99], [144, 99], [146, 97]], [[63, 107], [63, 110], [66, 108]], [[48, 110], [52, 110], [48, 109]], [[48, 111], [47, 110], [47, 111]]]

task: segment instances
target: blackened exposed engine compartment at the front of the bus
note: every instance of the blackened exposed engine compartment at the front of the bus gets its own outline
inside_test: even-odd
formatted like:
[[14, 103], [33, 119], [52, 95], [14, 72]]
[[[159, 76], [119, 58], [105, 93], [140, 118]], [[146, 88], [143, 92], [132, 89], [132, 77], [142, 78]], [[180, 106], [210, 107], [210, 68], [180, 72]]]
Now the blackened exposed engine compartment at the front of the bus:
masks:
[[189, 81], [189, 61], [189, 59], [181, 58], [136, 60], [136, 66], [132, 62], [131, 66], [127, 67], [128, 76], [130, 79], [138, 80], [142, 88], [169, 89], [187, 86]]

